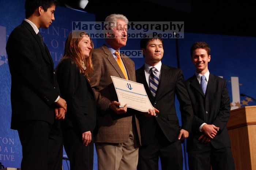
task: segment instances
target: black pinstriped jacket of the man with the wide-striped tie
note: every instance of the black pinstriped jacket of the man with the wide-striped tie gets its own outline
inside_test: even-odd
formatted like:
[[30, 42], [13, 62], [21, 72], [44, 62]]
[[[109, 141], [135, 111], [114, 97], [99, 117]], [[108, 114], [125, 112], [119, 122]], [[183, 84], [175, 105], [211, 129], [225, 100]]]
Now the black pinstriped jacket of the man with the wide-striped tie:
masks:
[[[145, 117], [140, 113], [140, 133], [142, 145], [152, 142], [157, 123], [170, 142], [178, 140], [180, 126], [175, 109], [175, 94], [180, 102], [182, 127], [191, 131], [193, 111], [191, 102], [184, 85], [184, 78], [180, 69], [163, 65], [161, 67], [161, 80], [155, 97], [152, 95], [144, 72], [144, 65], [136, 70], [136, 80], [144, 84], [151, 104], [159, 110], [158, 117]], [[157, 120], [157, 121], [155, 121]]]

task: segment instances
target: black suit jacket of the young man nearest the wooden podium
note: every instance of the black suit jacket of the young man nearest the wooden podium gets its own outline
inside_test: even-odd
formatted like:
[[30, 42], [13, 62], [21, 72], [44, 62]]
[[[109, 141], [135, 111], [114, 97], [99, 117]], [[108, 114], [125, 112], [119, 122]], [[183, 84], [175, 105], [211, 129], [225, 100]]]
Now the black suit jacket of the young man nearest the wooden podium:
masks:
[[226, 81], [210, 74], [205, 96], [195, 75], [185, 81], [185, 85], [194, 112], [192, 133], [187, 140], [187, 149], [199, 150], [203, 148], [204, 144], [198, 140], [199, 136], [203, 134], [203, 132], [199, 132], [199, 127], [203, 123], [214, 124], [219, 127], [218, 134], [210, 141], [214, 148], [230, 147], [226, 127], [230, 115], [230, 97], [227, 92]]

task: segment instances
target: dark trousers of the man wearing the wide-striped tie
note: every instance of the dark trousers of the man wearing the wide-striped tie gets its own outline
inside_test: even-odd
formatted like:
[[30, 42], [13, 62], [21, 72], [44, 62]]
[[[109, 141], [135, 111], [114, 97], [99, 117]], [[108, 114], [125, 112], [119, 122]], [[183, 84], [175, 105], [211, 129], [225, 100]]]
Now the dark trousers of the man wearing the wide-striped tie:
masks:
[[158, 170], [158, 159], [160, 157], [162, 170], [182, 170], [181, 141], [169, 142], [159, 126], [157, 126], [155, 138], [152, 140], [152, 144], [139, 148], [137, 169]]

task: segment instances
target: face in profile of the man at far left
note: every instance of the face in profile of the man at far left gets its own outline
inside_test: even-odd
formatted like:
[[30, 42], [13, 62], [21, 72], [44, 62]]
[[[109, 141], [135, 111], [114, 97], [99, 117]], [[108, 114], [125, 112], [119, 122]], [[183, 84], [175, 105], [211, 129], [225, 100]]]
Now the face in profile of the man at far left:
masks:
[[54, 11], [55, 11], [55, 5], [50, 6], [46, 11], [39, 7], [39, 13], [40, 15], [40, 28], [48, 28], [50, 24], [54, 21]]

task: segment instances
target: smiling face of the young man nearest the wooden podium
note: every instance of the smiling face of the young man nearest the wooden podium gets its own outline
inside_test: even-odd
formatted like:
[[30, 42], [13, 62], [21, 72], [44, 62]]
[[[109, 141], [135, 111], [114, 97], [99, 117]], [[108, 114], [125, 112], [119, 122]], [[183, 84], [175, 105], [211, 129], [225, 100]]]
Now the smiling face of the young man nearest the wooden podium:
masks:
[[205, 49], [195, 49], [192, 53], [192, 62], [199, 74], [205, 74], [208, 71], [208, 62], [211, 60], [211, 55], [208, 55]]

